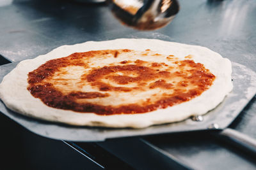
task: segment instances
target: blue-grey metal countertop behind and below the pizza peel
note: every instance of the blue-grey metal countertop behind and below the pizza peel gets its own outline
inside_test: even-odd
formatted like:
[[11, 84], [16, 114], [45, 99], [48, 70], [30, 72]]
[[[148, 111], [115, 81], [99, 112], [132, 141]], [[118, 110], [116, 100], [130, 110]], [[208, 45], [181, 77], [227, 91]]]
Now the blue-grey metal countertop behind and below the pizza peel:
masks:
[[[8, 6], [0, 7], [0, 55], [12, 62], [18, 62], [34, 58], [65, 44], [142, 36], [206, 46], [232, 60], [234, 67], [239, 68], [241, 66], [239, 64], [242, 64], [256, 71], [255, 1], [180, 0], [179, 2], [180, 11], [170, 25], [157, 31], [139, 32], [121, 25], [104, 4], [16, 0]], [[1, 74], [6, 74], [2, 71], [7, 69], [10, 70], [11, 67], [1, 66]], [[240, 80], [243, 80], [243, 77]], [[243, 103], [236, 104], [238, 108], [242, 108], [242, 105]], [[256, 139], [255, 110], [256, 99], [253, 97], [229, 127]], [[25, 119], [22, 117], [22, 120]], [[237, 150], [229, 143], [209, 138], [207, 134], [201, 132], [150, 136], [145, 140], [191, 168], [255, 169], [255, 159], [252, 156]], [[125, 150], [125, 145], [129, 145], [127, 141], [111, 140], [100, 145], [119, 157], [122, 155], [125, 157], [125, 153], [133, 154], [132, 151], [129, 152], [131, 147]], [[111, 147], [113, 149], [115, 146], [118, 146], [119, 150], [124, 149], [124, 152], [111, 150]]]

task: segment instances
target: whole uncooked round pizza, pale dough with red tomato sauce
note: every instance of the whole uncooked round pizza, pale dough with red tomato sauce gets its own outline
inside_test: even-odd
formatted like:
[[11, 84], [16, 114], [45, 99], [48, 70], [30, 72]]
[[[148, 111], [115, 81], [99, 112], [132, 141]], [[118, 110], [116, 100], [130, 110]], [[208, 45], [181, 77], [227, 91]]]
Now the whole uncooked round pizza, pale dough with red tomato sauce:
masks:
[[8, 108], [71, 125], [148, 127], [203, 115], [232, 90], [230, 60], [202, 46], [115, 39], [20, 62], [0, 85]]

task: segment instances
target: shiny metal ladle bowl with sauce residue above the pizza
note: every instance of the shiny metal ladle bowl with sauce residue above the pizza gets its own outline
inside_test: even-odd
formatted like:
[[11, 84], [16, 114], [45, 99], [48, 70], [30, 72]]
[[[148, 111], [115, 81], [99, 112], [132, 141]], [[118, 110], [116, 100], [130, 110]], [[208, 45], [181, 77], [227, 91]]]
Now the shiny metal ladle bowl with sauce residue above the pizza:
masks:
[[139, 30], [164, 27], [179, 12], [177, 0], [112, 0], [109, 6], [122, 24]]

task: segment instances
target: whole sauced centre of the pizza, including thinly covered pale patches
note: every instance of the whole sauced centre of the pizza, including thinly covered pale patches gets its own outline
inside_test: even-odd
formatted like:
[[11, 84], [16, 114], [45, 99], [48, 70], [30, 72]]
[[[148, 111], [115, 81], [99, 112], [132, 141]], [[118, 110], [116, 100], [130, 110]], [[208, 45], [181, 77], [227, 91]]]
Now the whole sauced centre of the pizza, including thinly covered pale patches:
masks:
[[47, 106], [62, 110], [147, 113], [189, 101], [211, 87], [214, 74], [192, 59], [150, 50], [72, 53], [29, 72], [28, 90]]

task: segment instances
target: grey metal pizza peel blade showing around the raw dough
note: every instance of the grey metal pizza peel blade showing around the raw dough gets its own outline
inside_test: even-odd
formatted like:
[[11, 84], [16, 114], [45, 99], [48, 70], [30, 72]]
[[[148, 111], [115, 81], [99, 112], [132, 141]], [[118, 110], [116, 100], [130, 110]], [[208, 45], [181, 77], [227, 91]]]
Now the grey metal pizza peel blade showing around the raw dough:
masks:
[[[0, 66], [0, 81], [16, 65], [17, 63], [11, 63]], [[182, 122], [154, 125], [144, 129], [76, 127], [25, 117], [19, 113], [14, 113], [13, 111], [8, 110], [2, 102], [0, 102], [0, 111], [31, 132], [46, 138], [66, 141], [104, 141], [111, 138], [148, 136], [173, 132], [216, 131], [216, 129], [220, 130], [220, 134], [224, 136], [232, 134], [234, 137], [234, 133], [223, 130], [227, 129], [228, 125], [233, 122], [246, 104], [248, 104], [252, 97], [255, 96], [256, 73], [236, 62], [232, 62], [232, 69], [234, 89], [214, 110], [205, 114], [203, 116], [204, 120], [201, 122], [193, 121], [193, 119], [188, 118]]]

